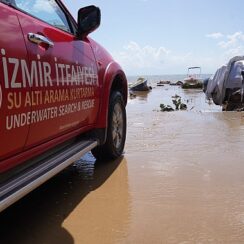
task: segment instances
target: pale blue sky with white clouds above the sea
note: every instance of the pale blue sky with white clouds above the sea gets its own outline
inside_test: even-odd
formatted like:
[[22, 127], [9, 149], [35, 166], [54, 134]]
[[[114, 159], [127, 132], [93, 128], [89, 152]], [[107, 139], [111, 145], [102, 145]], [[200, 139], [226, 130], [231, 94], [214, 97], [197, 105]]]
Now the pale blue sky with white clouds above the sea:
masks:
[[127, 75], [185, 74], [200, 66], [212, 74], [244, 55], [243, 0], [63, 0], [74, 18], [79, 8], [101, 9], [90, 36]]

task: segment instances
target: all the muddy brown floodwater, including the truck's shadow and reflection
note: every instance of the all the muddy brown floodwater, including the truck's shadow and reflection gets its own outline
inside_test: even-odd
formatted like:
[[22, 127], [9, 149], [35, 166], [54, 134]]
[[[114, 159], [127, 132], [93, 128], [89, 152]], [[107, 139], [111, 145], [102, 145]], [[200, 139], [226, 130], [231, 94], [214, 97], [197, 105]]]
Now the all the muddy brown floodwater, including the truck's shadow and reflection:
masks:
[[[188, 111], [163, 113], [179, 94]], [[125, 155], [87, 154], [0, 214], [0, 243], [243, 243], [244, 114], [200, 91], [129, 100]]]

